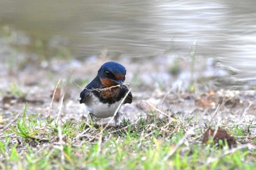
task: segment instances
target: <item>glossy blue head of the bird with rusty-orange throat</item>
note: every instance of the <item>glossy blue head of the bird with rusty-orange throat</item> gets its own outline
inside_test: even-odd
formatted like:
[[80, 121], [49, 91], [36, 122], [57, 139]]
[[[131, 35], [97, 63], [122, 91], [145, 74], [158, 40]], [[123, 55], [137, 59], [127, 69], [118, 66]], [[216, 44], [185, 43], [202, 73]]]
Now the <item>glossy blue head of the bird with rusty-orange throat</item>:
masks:
[[124, 66], [114, 61], [104, 63], [98, 71], [99, 80], [106, 88], [113, 85], [123, 85], [125, 74], [127, 74], [127, 70]]

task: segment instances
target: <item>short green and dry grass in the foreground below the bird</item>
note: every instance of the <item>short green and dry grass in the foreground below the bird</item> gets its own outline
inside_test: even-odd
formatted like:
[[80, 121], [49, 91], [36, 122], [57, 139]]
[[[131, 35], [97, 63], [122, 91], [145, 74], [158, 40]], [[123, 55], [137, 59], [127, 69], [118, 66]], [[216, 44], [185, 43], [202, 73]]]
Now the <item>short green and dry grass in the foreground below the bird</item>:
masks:
[[[193, 118], [124, 121], [120, 131], [83, 121], [39, 120], [24, 107], [1, 136], [0, 169], [255, 169], [255, 148], [202, 144], [203, 128]], [[245, 127], [246, 128], [246, 127]], [[193, 131], [189, 130], [193, 129]], [[231, 131], [233, 129], [233, 132]], [[249, 136], [233, 125], [232, 134]]]

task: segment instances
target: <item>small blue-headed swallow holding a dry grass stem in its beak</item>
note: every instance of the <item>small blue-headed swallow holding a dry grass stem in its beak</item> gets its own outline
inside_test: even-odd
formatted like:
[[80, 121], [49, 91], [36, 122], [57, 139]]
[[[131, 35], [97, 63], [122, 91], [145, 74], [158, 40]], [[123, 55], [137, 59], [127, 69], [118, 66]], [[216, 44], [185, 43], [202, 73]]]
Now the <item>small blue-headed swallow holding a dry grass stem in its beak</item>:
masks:
[[[132, 93], [124, 85], [126, 73], [120, 63], [108, 61], [99, 68], [94, 80], [80, 92], [80, 104], [86, 105], [91, 118], [113, 117], [124, 96], [123, 104], [132, 103]], [[117, 112], [114, 117], [117, 126], [119, 114]]]

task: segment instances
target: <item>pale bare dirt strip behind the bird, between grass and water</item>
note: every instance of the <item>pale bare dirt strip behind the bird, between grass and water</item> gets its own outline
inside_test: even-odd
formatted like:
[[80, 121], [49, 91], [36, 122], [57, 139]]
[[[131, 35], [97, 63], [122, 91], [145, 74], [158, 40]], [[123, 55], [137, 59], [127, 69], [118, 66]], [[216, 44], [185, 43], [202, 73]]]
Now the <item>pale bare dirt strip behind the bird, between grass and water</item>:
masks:
[[[154, 110], [148, 106], [147, 103], [150, 103], [169, 115], [189, 117], [197, 114], [203, 119], [211, 115], [218, 104], [222, 104], [218, 114], [222, 121], [230, 117], [235, 120], [240, 120], [238, 117], [254, 119], [255, 91], [222, 90], [214, 84], [202, 82], [195, 85], [195, 91], [189, 92], [184, 85], [189, 84], [189, 80], [179, 78], [181, 74], [188, 72], [188, 69], [182, 67], [184, 62], [180, 61], [179, 75], [173, 75], [169, 72], [171, 64], [163, 63], [165, 59], [165, 56], [159, 56], [150, 58], [149, 61], [134, 61], [131, 58], [117, 60], [127, 68], [126, 82], [132, 88], [134, 97], [132, 104], [121, 107], [125, 117], [137, 120], [138, 117], [145, 116]], [[11, 67], [3, 60], [0, 67], [2, 120], [10, 122], [15, 115], [23, 112], [26, 103], [28, 114], [39, 112], [45, 118], [50, 113], [51, 117], [56, 117], [62, 93], [62, 119], [80, 119], [86, 112], [83, 104], [78, 102], [79, 93], [96, 76], [99, 66], [109, 60], [111, 59], [85, 58], [78, 61], [51, 58], [39, 64], [26, 63], [22, 69]], [[205, 67], [201, 66], [200, 69]], [[200, 69], [197, 69], [198, 72]], [[179, 82], [175, 81], [176, 78]], [[59, 80], [61, 82], [50, 107], [53, 91]]]

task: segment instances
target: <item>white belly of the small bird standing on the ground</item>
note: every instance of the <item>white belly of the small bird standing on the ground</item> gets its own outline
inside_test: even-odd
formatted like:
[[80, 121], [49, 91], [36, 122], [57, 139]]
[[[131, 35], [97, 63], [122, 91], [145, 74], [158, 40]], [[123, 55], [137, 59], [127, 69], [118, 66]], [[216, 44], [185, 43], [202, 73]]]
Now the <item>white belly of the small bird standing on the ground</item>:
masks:
[[112, 117], [118, 108], [120, 101], [116, 101], [114, 104], [103, 104], [99, 102], [99, 98], [91, 95], [86, 101], [86, 107], [88, 107], [89, 112], [95, 117], [106, 118]]

